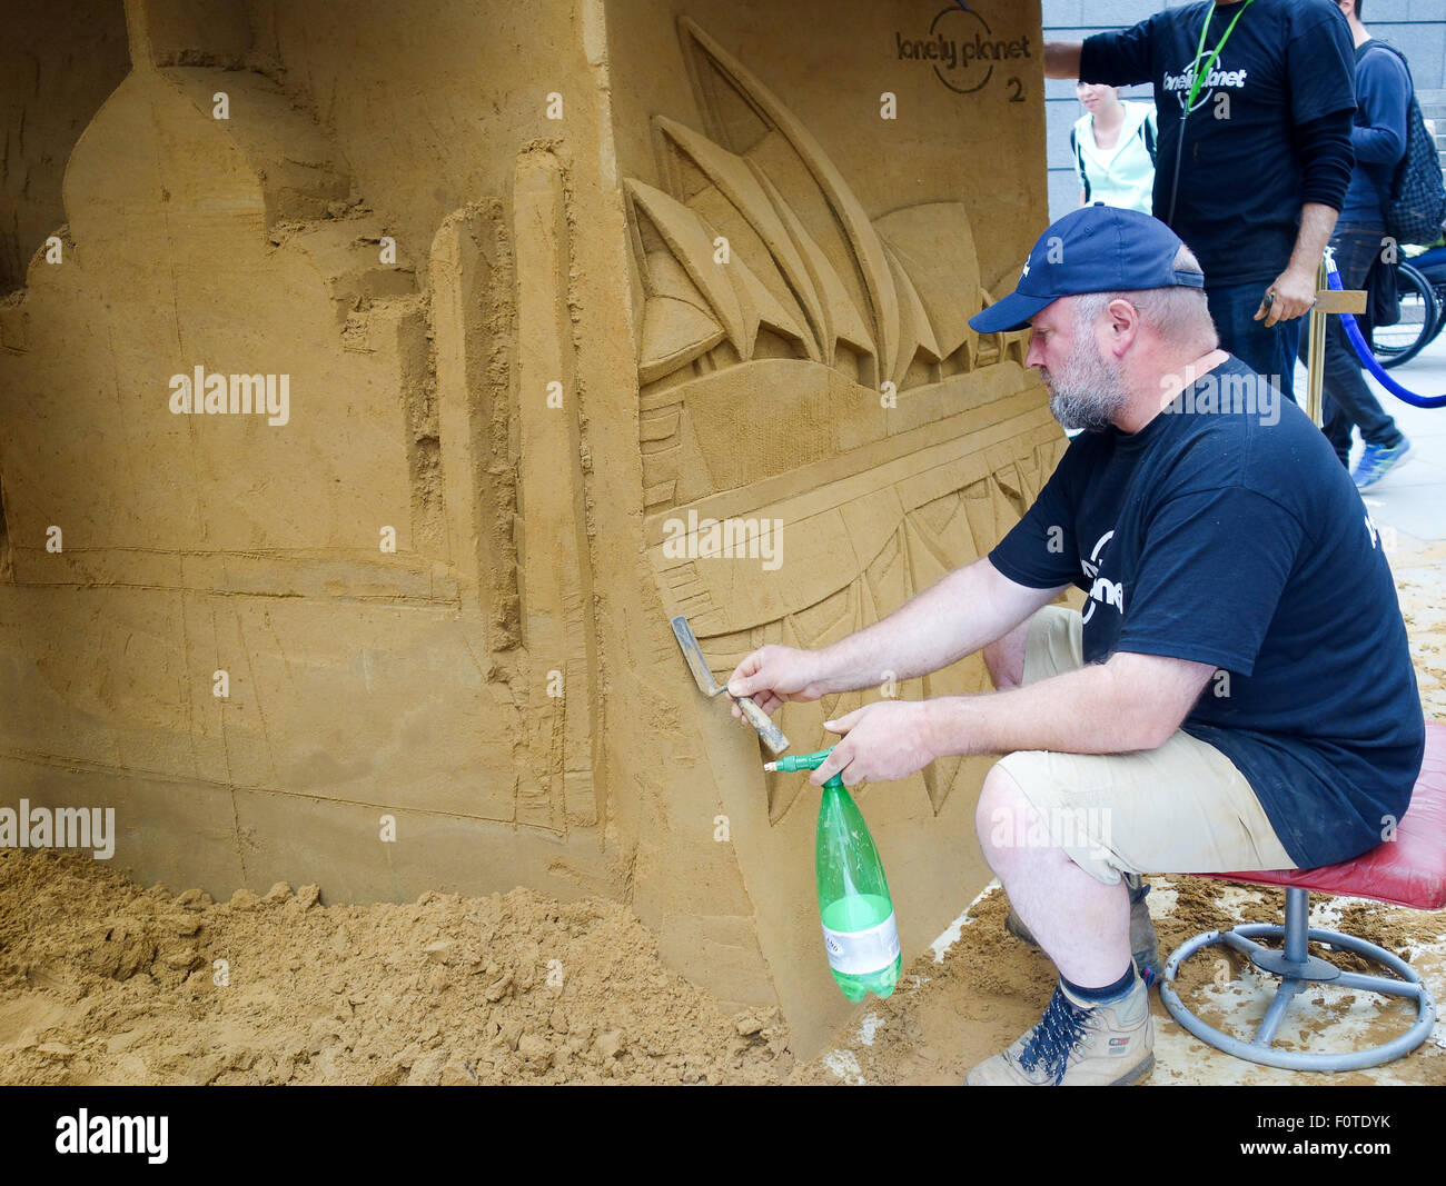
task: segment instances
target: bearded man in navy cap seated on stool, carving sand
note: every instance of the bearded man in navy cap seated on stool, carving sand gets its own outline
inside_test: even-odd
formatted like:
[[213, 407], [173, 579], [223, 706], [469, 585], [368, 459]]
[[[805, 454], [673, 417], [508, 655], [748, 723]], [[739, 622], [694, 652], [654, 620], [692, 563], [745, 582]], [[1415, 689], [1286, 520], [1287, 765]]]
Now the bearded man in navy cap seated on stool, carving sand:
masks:
[[[1218, 348], [1199, 266], [1163, 222], [1066, 215], [970, 325], [1032, 326], [1025, 361], [1086, 432], [988, 558], [831, 646], [753, 652], [729, 691], [772, 712], [983, 652], [998, 691], [830, 721], [843, 738], [813, 782], [1004, 754], [979, 842], [1060, 981], [967, 1082], [1131, 1083], [1154, 1031], [1124, 877], [1379, 844], [1424, 750], [1406, 627], [1351, 478], [1304, 412]], [[1083, 613], [1050, 604], [1070, 585]]]

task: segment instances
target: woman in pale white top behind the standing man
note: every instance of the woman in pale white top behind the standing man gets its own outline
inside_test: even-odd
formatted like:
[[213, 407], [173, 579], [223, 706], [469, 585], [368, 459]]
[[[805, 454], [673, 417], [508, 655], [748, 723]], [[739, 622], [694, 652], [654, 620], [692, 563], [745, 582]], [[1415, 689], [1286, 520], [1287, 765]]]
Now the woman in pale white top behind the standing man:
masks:
[[1121, 100], [1119, 88], [1080, 82], [1074, 92], [1084, 114], [1070, 130], [1070, 152], [1080, 179], [1080, 205], [1151, 214], [1155, 185], [1155, 105]]

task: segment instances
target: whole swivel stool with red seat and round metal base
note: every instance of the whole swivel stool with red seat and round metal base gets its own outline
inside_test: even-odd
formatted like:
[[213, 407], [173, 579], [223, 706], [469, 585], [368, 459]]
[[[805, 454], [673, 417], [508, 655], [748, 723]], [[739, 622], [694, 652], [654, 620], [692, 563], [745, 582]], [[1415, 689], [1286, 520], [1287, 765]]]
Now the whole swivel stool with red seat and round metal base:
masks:
[[[1446, 725], [1426, 727], [1426, 757], [1411, 793], [1411, 803], [1395, 826], [1394, 838], [1351, 861], [1312, 870], [1272, 873], [1207, 873], [1219, 881], [1285, 887], [1285, 923], [1245, 923], [1231, 930], [1207, 930], [1184, 942], [1165, 964], [1160, 995], [1165, 1008], [1184, 1029], [1219, 1050], [1291, 1070], [1358, 1070], [1401, 1057], [1420, 1046], [1436, 1023], [1436, 1004], [1430, 990], [1406, 961], [1385, 948], [1322, 930], [1309, 925], [1310, 891], [1390, 901], [1414, 910], [1440, 910], [1446, 906]], [[1257, 943], [1258, 938], [1284, 939], [1284, 949]], [[1190, 1013], [1174, 990], [1180, 965], [1196, 952], [1223, 943], [1248, 956], [1257, 968], [1281, 978], [1265, 1017], [1252, 1042], [1241, 1042], [1206, 1026]], [[1345, 972], [1310, 955], [1310, 943], [1325, 943], [1336, 951], [1355, 952], [1382, 965], [1395, 975], [1368, 977]], [[1342, 988], [1406, 997], [1416, 1003], [1416, 1023], [1381, 1046], [1345, 1053], [1301, 1053], [1277, 1050], [1275, 1033], [1290, 1001], [1310, 984], [1335, 984]]]

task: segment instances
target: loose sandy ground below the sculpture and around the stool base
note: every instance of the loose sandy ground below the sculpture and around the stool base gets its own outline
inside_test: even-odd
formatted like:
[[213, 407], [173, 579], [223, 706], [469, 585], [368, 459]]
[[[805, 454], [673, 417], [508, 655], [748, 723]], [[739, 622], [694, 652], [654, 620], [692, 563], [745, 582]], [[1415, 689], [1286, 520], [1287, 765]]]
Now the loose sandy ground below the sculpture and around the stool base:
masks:
[[[1398, 549], [1421, 699], [1446, 721], [1446, 545], [1403, 537]], [[1283, 901], [1202, 878], [1151, 884], [1164, 952], [1274, 920]], [[90, 857], [0, 849], [0, 1083], [957, 1083], [1028, 1029], [1053, 988], [1044, 955], [1004, 932], [1005, 909], [986, 890], [892, 998], [870, 998], [833, 1049], [801, 1063], [777, 1013], [720, 1010], [617, 903], [518, 888], [324, 906], [315, 886], [214, 903], [143, 888]], [[1313, 925], [1395, 951], [1446, 1000], [1440, 914], [1317, 897]], [[1206, 1020], [1242, 1036], [1270, 988], [1213, 952], [1183, 984]], [[1180, 1030], [1158, 995], [1154, 1010], [1155, 1085], [1446, 1083], [1442, 1024], [1406, 1059], [1322, 1076], [1242, 1063]], [[1327, 987], [1293, 1007], [1283, 1042], [1351, 1049], [1406, 1024], [1400, 1003]]]

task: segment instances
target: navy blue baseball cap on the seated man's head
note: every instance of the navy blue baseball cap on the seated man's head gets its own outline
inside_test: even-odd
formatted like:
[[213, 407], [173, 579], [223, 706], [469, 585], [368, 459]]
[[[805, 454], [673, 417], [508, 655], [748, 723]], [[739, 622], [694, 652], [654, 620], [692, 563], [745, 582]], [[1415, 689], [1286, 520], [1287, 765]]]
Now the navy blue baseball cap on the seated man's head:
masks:
[[1137, 209], [1096, 202], [1070, 211], [1035, 241], [1014, 292], [969, 318], [969, 326], [980, 334], [1025, 329], [1047, 305], [1083, 292], [1203, 289], [1199, 272], [1174, 269], [1183, 246], [1164, 222]]

